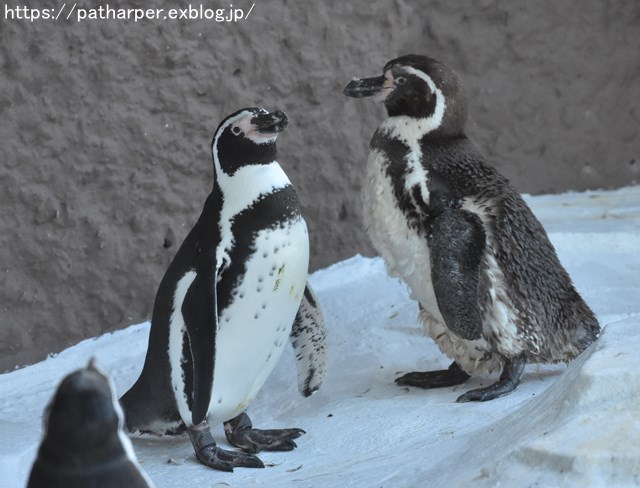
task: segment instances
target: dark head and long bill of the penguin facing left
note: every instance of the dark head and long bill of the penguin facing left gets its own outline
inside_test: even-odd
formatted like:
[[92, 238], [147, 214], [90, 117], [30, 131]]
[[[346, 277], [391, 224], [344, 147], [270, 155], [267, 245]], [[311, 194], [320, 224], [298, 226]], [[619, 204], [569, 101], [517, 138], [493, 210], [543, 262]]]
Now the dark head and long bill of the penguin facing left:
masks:
[[445, 64], [416, 54], [389, 61], [382, 75], [354, 79], [343, 90], [348, 97], [384, 102], [390, 118], [421, 121], [425, 133], [464, 133], [467, 99], [455, 72]]

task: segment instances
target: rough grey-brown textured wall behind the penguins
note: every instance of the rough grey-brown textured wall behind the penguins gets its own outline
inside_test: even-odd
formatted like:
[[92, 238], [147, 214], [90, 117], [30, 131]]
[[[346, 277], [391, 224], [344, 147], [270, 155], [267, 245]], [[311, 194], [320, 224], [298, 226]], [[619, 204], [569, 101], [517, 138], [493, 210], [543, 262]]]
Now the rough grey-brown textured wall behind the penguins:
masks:
[[639, 25], [637, 0], [274, 0], [236, 24], [3, 15], [0, 371], [149, 318], [211, 186], [212, 132], [242, 106], [290, 116], [280, 159], [312, 269], [370, 254], [359, 177], [384, 112], [341, 90], [399, 54], [460, 72], [470, 136], [521, 191], [637, 181]]

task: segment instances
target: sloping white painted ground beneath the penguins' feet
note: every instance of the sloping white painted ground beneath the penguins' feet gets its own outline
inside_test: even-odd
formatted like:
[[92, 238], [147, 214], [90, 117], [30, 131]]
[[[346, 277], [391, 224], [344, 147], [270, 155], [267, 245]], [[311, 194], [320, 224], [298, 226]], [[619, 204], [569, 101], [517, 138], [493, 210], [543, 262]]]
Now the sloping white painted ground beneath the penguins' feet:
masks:
[[[330, 332], [329, 373], [298, 395], [287, 349], [250, 407], [258, 428], [301, 427], [262, 470], [198, 464], [188, 438], [136, 437], [158, 488], [215, 486], [633, 486], [640, 483], [640, 187], [528, 198], [577, 288], [605, 326], [569, 367], [528, 365], [511, 395], [454, 403], [457, 388], [400, 388], [410, 370], [449, 360], [422, 334], [406, 287], [379, 259], [356, 256], [312, 276]], [[0, 486], [23, 487], [57, 383], [95, 356], [121, 394], [144, 358], [149, 324], [84, 341], [0, 375]], [[221, 426], [216, 441], [229, 447]]]

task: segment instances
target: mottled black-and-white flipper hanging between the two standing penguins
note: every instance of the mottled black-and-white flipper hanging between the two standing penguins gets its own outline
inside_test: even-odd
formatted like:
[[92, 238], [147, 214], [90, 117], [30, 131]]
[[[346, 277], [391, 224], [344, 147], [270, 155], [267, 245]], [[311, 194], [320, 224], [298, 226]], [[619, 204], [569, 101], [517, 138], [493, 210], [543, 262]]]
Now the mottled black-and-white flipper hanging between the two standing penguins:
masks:
[[322, 310], [309, 283], [289, 338], [296, 356], [298, 391], [307, 397], [320, 388], [327, 371], [327, 332]]

